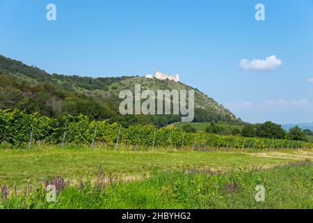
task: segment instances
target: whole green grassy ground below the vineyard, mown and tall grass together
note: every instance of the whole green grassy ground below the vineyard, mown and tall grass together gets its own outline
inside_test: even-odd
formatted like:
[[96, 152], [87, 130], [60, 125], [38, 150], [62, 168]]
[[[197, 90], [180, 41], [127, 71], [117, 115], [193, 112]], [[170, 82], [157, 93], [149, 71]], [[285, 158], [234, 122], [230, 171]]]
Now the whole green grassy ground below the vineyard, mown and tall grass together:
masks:
[[[312, 150], [0, 149], [0, 208], [313, 208], [312, 161]], [[52, 203], [49, 179], [66, 182]]]

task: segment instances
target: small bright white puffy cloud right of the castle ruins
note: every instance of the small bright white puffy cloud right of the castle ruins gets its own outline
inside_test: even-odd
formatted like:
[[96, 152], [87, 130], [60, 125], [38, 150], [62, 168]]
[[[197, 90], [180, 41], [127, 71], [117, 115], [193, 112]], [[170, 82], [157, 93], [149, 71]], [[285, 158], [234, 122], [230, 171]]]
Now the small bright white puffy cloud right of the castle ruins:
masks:
[[266, 72], [277, 69], [282, 65], [282, 60], [276, 56], [268, 56], [266, 59], [242, 59], [240, 61], [240, 69], [243, 71], [254, 70], [255, 72]]

